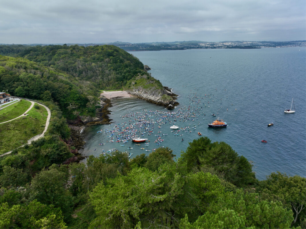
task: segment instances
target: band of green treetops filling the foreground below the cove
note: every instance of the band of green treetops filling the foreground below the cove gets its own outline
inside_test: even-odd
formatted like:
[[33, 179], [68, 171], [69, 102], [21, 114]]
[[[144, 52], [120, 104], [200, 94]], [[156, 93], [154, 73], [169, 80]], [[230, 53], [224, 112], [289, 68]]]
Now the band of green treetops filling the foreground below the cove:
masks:
[[[43, 145], [53, 145], [50, 138], [28, 148], [47, 156]], [[87, 166], [50, 166], [50, 160], [50, 167], [34, 177], [29, 172], [37, 162], [20, 158], [28, 158], [30, 152], [23, 149], [1, 158], [4, 228], [36, 228], [42, 223], [45, 228], [303, 228], [305, 224], [305, 178], [272, 173], [258, 181], [243, 156], [207, 137], [189, 143], [177, 162], [170, 148], [131, 161], [117, 151], [90, 156]], [[37, 212], [35, 206], [45, 210]], [[23, 220], [27, 209], [33, 209], [30, 222]]]

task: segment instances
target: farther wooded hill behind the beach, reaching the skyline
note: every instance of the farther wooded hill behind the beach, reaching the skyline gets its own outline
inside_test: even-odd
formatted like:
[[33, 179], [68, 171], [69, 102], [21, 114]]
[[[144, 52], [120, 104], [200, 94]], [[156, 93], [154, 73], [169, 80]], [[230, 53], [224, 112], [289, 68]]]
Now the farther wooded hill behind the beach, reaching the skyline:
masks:
[[[9, 49], [0, 46], [0, 53], [25, 57], [75, 78], [94, 82], [102, 88], [120, 89], [138, 73], [146, 74], [144, 65], [136, 57], [113, 45], [11, 46]], [[25, 64], [19, 64], [21, 66]], [[7, 64], [7, 67], [13, 69], [17, 66]]]

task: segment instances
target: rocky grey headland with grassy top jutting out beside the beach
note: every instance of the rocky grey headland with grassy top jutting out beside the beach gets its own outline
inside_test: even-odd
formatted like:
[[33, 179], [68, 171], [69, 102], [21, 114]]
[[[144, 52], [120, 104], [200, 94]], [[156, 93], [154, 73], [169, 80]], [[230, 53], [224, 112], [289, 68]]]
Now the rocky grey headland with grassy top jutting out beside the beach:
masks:
[[[139, 99], [150, 103], [174, 109], [179, 103], [176, 101], [176, 94], [170, 92], [167, 87], [151, 76], [138, 75], [127, 83], [125, 91]], [[168, 90], [167, 90], [168, 89]]]

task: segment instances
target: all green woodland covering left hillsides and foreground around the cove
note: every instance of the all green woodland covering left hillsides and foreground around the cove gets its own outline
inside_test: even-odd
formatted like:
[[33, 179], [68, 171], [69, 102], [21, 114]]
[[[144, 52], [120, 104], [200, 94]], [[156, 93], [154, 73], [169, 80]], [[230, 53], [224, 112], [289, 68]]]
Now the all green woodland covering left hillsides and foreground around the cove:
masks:
[[[247, 158], [207, 137], [177, 161], [165, 147], [132, 160], [116, 151], [69, 163], [77, 151], [67, 120], [95, 115], [99, 90], [157, 91], [161, 83], [115, 46], [4, 48], [11, 56], [0, 56], [0, 91], [43, 101], [51, 119], [44, 137], [0, 157], [1, 228], [306, 227], [304, 177], [272, 173], [259, 181]], [[8, 140], [1, 147], [17, 133], [42, 132], [45, 109], [28, 114], [0, 125]]]

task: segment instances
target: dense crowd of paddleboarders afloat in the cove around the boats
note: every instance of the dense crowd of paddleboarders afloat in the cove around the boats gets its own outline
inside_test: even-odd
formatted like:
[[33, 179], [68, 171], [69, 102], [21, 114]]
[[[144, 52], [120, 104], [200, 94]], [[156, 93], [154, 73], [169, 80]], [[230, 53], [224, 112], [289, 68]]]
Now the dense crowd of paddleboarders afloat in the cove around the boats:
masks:
[[[222, 108], [222, 99], [218, 99], [212, 93], [201, 95], [196, 92], [191, 92], [188, 99], [189, 105], [179, 107], [176, 111], [143, 110], [140, 112], [130, 111], [128, 114], [120, 115], [121, 123], [112, 123], [108, 128], [97, 132], [98, 134], [106, 134], [102, 138], [107, 140], [101, 142], [100, 146], [110, 148], [110, 144], [116, 145], [116, 148], [111, 147], [107, 151], [102, 149], [102, 154], [121, 151], [130, 157], [132, 155], [130, 150], [133, 147], [140, 147], [141, 150], [148, 152], [152, 152], [158, 147], [164, 147], [162, 144], [170, 134], [180, 136], [181, 142], [184, 141], [184, 134], [196, 133], [201, 136], [196, 128], [203, 123], [206, 117], [205, 111], [209, 111], [210, 105], [217, 103], [220, 104], [217, 108], [219, 112]], [[212, 114], [212, 116], [215, 115]], [[219, 118], [208, 123], [209, 127], [226, 127], [226, 125], [226, 122], [219, 120]], [[165, 126], [169, 131], [164, 131], [165, 128], [162, 127]], [[177, 128], [172, 128], [173, 126]], [[134, 141], [135, 145], [127, 147], [125, 144], [129, 141]], [[149, 147], [150, 145], [154, 145], [154, 147]]]

